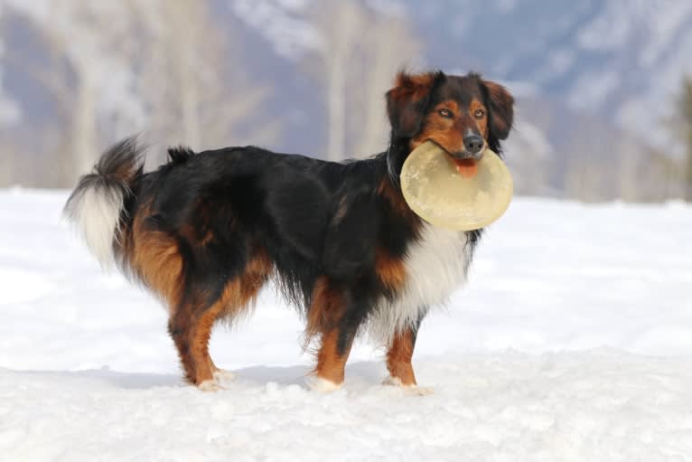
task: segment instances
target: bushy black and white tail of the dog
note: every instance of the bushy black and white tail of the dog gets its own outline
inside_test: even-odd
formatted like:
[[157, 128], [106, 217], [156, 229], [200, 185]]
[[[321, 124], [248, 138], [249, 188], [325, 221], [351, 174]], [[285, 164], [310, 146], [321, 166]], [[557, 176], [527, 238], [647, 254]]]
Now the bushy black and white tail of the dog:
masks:
[[121, 214], [131, 184], [143, 172], [142, 154], [136, 137], [111, 146], [94, 165], [94, 171], [79, 178], [65, 203], [63, 215], [77, 229], [101, 267], [114, 261], [113, 244], [119, 238]]

